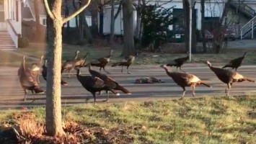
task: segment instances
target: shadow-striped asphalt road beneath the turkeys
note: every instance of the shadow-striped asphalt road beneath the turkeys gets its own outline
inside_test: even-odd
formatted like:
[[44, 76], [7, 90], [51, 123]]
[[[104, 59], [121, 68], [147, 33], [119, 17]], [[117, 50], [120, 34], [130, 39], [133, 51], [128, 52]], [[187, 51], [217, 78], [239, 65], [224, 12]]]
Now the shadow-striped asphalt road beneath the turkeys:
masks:
[[[98, 71], [98, 68], [92, 67], [94, 70]], [[32, 103], [31, 93], [27, 96], [27, 102], [23, 102], [24, 91], [22, 90], [18, 76], [18, 68], [0, 68], [0, 109], [21, 109], [22, 107], [34, 107], [45, 105], [45, 94], [35, 95], [36, 101]], [[175, 68], [173, 68], [175, 69]], [[193, 73], [198, 76], [201, 80], [208, 82], [213, 86], [212, 89], [206, 86], [197, 86], [195, 89], [195, 97], [197, 96], [224, 96], [224, 90], [226, 89], [226, 84], [223, 84], [216, 78], [215, 74], [207, 66], [197, 66], [197, 65], [184, 65], [182, 68], [188, 73]], [[149, 100], [162, 100], [162, 99], [173, 99], [179, 98], [182, 95], [182, 88], [177, 86], [177, 84], [172, 81], [165, 73], [163, 68], [159, 66], [131, 66], [131, 74], [120, 73], [120, 68], [106, 68], [110, 71], [111, 78], [118, 81], [118, 83], [124, 86], [126, 89], [131, 91], [131, 95], [125, 95], [120, 92], [120, 96], [115, 96], [110, 94], [110, 102], [127, 102], [127, 101], [149, 101]], [[124, 69], [125, 70], [125, 69]], [[242, 66], [239, 68], [238, 72], [244, 76], [255, 79], [256, 66]], [[88, 68], [82, 68], [81, 73], [83, 75], [88, 75]], [[75, 74], [75, 73], [74, 73]], [[86, 89], [84, 89], [79, 81], [77, 81], [74, 75], [71, 78], [67, 77], [67, 73], [63, 73], [63, 80], [68, 82], [68, 86], [63, 86], [61, 91], [62, 104], [72, 105], [72, 104], [86, 104], [92, 103], [92, 94], [90, 94]], [[134, 84], [136, 78], [154, 76], [165, 81], [164, 84]], [[40, 87], [44, 90], [45, 81], [40, 76]], [[236, 83], [233, 84], [230, 94], [255, 94], [256, 84], [250, 82]], [[88, 102], [85, 102], [87, 96], [90, 96]], [[187, 93], [185, 97], [192, 97], [190, 87], [187, 87]], [[102, 91], [102, 95], [97, 97], [98, 103], [103, 103], [105, 100], [105, 92]], [[106, 103], [106, 102], [105, 102]]]

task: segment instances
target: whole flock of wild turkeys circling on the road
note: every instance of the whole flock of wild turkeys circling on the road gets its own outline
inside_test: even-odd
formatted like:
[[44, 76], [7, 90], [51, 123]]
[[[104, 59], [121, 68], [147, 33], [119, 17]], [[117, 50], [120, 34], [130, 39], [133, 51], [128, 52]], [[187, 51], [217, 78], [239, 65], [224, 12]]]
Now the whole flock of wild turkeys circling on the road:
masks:
[[[122, 91], [124, 94], [131, 94], [128, 89], [125, 89], [123, 86], [120, 86], [117, 81], [110, 78], [110, 76], [107, 76], [104, 73], [101, 73], [101, 70], [105, 71], [109, 74], [108, 71], [105, 70], [105, 67], [108, 63], [110, 63], [110, 58], [112, 55], [113, 50], [110, 50], [109, 55], [107, 55], [105, 58], [97, 58], [94, 60], [91, 60], [89, 63], [87, 63], [87, 57], [89, 53], [86, 53], [84, 57], [78, 58], [79, 51], [77, 50], [74, 58], [70, 60], [66, 60], [62, 63], [61, 66], [61, 74], [63, 71], [67, 71], [69, 73], [73, 74], [73, 71], [76, 72], [76, 78], [81, 83], [81, 86], [84, 87], [84, 89], [87, 89], [92, 96], [94, 97], [94, 104], [96, 102], [97, 95], [101, 95], [101, 91], [106, 91], [107, 93], [107, 99], [105, 102], [109, 99], [109, 91], [111, 91], [115, 95], [120, 95], [118, 91]], [[138, 53], [136, 54], [136, 56]], [[227, 85], [227, 89], [225, 90], [226, 96], [229, 96], [229, 91], [231, 89], [231, 86], [235, 82], [242, 82], [242, 81], [250, 81], [254, 82], [252, 79], [247, 78], [245, 76], [242, 76], [241, 74], [237, 73], [237, 68], [239, 68], [242, 65], [242, 61], [244, 60], [244, 57], [247, 55], [247, 53], [244, 53], [242, 57], [235, 58], [234, 60], [230, 60], [229, 63], [226, 64], [226, 66], [223, 66], [222, 68], [217, 68], [211, 65], [210, 61], [206, 61], [206, 64], [208, 67], [215, 73], [217, 78], [219, 78], [220, 81], [222, 81], [224, 84]], [[123, 73], [123, 67], [126, 67], [127, 73], [129, 73], [129, 67], [134, 62], [136, 56], [129, 55], [125, 57], [124, 60], [113, 63], [112, 67], [115, 66], [121, 66], [121, 73]], [[185, 87], [190, 86], [192, 89], [192, 94], [195, 96], [195, 87], [198, 85], [204, 85], [209, 88], [212, 88], [211, 85], [206, 84], [205, 81], [200, 80], [198, 76], [195, 76], [192, 73], [187, 73], [185, 71], [182, 71], [181, 67], [182, 65], [188, 60], [189, 55], [187, 53], [187, 56], [184, 58], [177, 58], [175, 60], [172, 60], [172, 63], [163, 64], [160, 67], [164, 68], [164, 71], [167, 73], [167, 76], [171, 77], [172, 80], [182, 88], [183, 93], [182, 97], [185, 96], [186, 89]], [[32, 65], [26, 65], [25, 64], [25, 56], [23, 56], [23, 60], [21, 63], [21, 66], [18, 70], [18, 76], [19, 76], [19, 82], [22, 86], [22, 89], [25, 92], [24, 101], [27, 97], [27, 91], [32, 92], [33, 96], [33, 102], [35, 102], [35, 96], [34, 94], [40, 94], [44, 93], [43, 89], [40, 88], [39, 84], [39, 76], [40, 73], [43, 76], [43, 79], [47, 81], [47, 60], [44, 60], [43, 63], [43, 56], [40, 58], [39, 63], [32, 63]], [[92, 67], [98, 67], [100, 68], [100, 72], [92, 70]], [[176, 66], [176, 71], [170, 71], [168, 67]], [[90, 76], [82, 76], [80, 68], [87, 67], [89, 69]], [[177, 72], [177, 68], [180, 68], [180, 71]], [[232, 68], [232, 70], [226, 69], [226, 68]], [[234, 69], [234, 71], [233, 71]], [[68, 85], [66, 81], [63, 81], [61, 79], [61, 85], [66, 86]], [[87, 98], [88, 100], [89, 98]]]

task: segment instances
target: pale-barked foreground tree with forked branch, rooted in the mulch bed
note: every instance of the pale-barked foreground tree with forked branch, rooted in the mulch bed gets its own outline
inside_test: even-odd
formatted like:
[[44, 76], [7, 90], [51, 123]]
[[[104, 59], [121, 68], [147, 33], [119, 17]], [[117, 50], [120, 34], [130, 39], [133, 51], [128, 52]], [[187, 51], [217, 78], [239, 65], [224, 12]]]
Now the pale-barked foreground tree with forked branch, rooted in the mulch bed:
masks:
[[50, 136], [64, 135], [61, 122], [61, 53], [62, 25], [76, 17], [91, 2], [82, 6], [69, 17], [61, 17], [62, 0], [44, 0], [47, 11], [48, 75], [46, 87], [46, 132]]

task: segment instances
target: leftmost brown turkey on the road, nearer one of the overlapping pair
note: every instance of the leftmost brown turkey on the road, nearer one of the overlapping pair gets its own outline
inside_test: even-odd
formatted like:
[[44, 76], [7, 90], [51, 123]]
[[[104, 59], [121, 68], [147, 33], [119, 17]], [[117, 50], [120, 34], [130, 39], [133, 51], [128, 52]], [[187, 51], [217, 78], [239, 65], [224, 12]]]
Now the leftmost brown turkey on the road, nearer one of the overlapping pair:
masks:
[[27, 91], [30, 90], [33, 95], [33, 101], [35, 102], [35, 95], [34, 91], [36, 94], [43, 93], [43, 89], [40, 89], [40, 87], [37, 84], [37, 81], [32, 77], [31, 71], [25, 67], [25, 56], [23, 56], [22, 64], [18, 70], [18, 76], [19, 76], [19, 82], [20, 85], [22, 86], [22, 89], [24, 90], [25, 96], [24, 96], [24, 101], [26, 101], [27, 98]]

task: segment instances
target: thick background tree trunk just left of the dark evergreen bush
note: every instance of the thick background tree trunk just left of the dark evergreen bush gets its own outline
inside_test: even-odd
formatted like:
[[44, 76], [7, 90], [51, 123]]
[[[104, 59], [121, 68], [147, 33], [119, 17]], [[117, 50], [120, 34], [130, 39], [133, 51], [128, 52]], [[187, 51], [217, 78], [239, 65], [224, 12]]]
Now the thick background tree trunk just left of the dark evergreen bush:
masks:
[[123, 6], [123, 56], [135, 55], [133, 38], [133, 0], [125, 0]]

